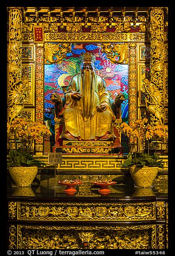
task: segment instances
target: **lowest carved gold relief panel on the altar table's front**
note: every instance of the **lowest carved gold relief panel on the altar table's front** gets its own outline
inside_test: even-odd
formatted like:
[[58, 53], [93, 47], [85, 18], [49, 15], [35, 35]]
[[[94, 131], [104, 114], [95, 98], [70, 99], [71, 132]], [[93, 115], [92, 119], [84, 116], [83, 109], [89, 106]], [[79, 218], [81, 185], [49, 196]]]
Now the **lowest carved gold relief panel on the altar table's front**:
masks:
[[[155, 249], [156, 225], [48, 226], [18, 225], [18, 248], [54, 249]], [[163, 229], [157, 229], [159, 248]]]

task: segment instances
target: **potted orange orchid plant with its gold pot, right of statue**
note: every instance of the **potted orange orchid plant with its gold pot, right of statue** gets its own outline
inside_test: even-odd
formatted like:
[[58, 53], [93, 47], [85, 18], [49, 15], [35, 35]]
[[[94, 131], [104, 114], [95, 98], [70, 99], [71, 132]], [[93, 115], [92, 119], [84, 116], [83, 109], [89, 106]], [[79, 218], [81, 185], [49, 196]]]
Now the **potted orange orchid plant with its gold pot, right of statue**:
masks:
[[[164, 168], [163, 159], [156, 153], [156, 148], [158, 139], [163, 138], [167, 141], [167, 125], [151, 126], [148, 119], [143, 118], [132, 123], [132, 127], [122, 123], [119, 129], [128, 137], [130, 148], [127, 160], [122, 166], [129, 168], [137, 187], [151, 187], [158, 168]], [[153, 140], [155, 151], [150, 152], [149, 145]]]

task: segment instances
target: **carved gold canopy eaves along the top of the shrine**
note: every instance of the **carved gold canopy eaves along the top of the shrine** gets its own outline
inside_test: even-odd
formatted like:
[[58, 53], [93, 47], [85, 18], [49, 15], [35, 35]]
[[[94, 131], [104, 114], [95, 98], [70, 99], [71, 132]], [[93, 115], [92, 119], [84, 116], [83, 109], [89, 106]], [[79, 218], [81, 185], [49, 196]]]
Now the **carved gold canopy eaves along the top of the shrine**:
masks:
[[[167, 7], [163, 7], [167, 20]], [[91, 23], [117, 22], [146, 23], [151, 7], [23, 7], [24, 22]], [[65, 24], [66, 25], [66, 24]]]

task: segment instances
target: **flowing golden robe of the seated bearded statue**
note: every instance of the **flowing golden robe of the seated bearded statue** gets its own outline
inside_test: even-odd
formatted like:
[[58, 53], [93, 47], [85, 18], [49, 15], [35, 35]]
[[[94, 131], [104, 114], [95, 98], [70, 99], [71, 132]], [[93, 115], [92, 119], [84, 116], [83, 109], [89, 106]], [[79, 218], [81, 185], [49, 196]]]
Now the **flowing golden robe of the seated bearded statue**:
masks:
[[[71, 94], [75, 91], [82, 94], [78, 101], [71, 98]], [[107, 105], [107, 109], [98, 112], [96, 107], [101, 103]], [[112, 137], [114, 136], [112, 121], [115, 120], [115, 116], [111, 109], [110, 97], [105, 81], [96, 73], [92, 74], [92, 82], [86, 88], [83, 88], [81, 73], [72, 77], [69, 89], [65, 94], [65, 106], [61, 114], [64, 119], [61, 137], [65, 132], [83, 140], [101, 138], [107, 132]]]

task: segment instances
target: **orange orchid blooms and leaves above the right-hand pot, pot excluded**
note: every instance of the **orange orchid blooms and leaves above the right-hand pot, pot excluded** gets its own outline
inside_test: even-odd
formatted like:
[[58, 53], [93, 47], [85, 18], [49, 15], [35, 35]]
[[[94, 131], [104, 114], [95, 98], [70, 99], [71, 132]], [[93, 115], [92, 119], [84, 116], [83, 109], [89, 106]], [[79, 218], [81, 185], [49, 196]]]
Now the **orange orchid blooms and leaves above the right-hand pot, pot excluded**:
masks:
[[[147, 118], [137, 119], [132, 123], [132, 127], [127, 123], [122, 123], [119, 130], [129, 138], [130, 152], [128, 158], [123, 162], [123, 166], [159, 166], [163, 168], [162, 159], [156, 154], [157, 141], [159, 138], [164, 138], [167, 143], [168, 127], [167, 125], [153, 125], [148, 123]], [[138, 150], [136, 147], [140, 142]], [[151, 141], [155, 143], [154, 154], [149, 151]]]

